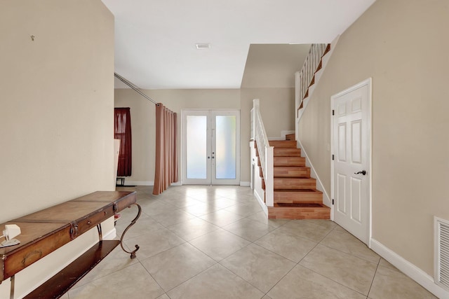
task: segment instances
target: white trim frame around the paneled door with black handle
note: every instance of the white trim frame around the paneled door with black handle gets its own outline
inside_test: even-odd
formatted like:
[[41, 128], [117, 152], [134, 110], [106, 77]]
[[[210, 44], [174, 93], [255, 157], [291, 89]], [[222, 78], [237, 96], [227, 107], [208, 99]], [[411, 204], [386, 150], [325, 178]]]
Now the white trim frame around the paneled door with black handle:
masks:
[[[334, 160], [332, 159], [332, 155], [334, 155], [334, 142], [335, 142], [335, 136], [334, 136], [334, 117], [332, 115], [332, 111], [335, 109], [335, 99], [337, 97], [341, 97], [342, 95], [346, 95], [349, 92], [352, 92], [358, 88], [361, 88], [363, 86], [368, 86], [368, 113], [367, 113], [367, 148], [368, 148], [368, 237], [367, 237], [367, 246], [371, 248], [371, 238], [373, 236], [373, 209], [372, 209], [372, 199], [373, 199], [373, 78], [368, 78], [360, 83], [357, 83], [356, 85], [351, 86], [350, 88], [347, 88], [341, 92], [338, 92], [335, 95], [332, 95], [330, 97], [330, 195], [334, 199], [335, 198], [335, 190], [334, 190]], [[335, 213], [335, 206], [332, 204], [332, 207], [330, 208], [330, 215], [331, 220], [334, 221], [334, 213]]]

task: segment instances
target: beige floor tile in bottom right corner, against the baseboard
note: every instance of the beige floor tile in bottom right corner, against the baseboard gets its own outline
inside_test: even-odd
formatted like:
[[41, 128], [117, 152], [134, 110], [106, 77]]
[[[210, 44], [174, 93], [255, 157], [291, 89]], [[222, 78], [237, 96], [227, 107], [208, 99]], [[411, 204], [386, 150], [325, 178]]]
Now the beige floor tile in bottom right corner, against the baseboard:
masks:
[[406, 274], [379, 266], [368, 296], [372, 299], [424, 299], [436, 298]]

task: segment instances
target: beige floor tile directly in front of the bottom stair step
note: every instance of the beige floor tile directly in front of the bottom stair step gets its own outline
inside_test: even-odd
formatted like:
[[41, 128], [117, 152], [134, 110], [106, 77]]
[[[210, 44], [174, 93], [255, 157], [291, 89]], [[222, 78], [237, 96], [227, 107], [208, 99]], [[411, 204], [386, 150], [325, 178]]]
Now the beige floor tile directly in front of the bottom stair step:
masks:
[[314, 242], [321, 242], [330, 232], [330, 228], [325, 228], [322, 225], [316, 225], [311, 221], [292, 220], [282, 225], [279, 230], [283, 232], [290, 232], [294, 235], [309, 239]]

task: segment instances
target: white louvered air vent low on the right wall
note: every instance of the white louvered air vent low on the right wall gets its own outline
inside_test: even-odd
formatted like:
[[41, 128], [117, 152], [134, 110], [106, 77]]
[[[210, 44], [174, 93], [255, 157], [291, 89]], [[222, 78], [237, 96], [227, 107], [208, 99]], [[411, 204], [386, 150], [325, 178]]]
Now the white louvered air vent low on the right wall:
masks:
[[434, 280], [449, 291], [449, 221], [434, 217]]

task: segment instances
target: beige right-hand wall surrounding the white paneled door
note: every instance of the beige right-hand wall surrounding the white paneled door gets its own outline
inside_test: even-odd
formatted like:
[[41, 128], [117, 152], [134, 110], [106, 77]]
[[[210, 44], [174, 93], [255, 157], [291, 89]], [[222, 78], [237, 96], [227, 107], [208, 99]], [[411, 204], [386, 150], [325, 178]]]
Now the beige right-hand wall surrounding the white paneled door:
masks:
[[449, 3], [377, 0], [340, 37], [300, 122], [330, 193], [330, 96], [373, 78], [373, 238], [433, 276], [449, 219]]

